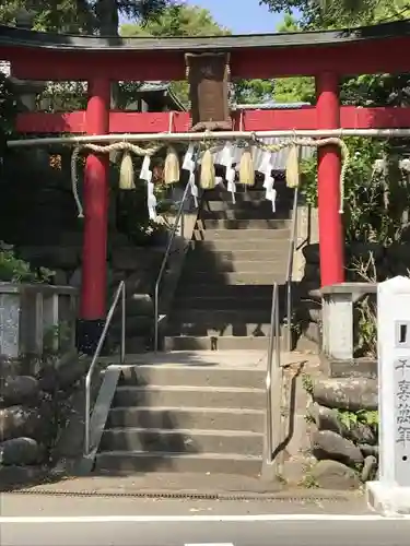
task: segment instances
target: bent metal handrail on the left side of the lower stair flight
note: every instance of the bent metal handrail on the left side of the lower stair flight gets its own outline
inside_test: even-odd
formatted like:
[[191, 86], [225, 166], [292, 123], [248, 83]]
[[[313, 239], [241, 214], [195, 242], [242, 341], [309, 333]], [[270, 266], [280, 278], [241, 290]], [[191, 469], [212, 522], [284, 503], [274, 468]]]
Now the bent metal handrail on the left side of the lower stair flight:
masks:
[[90, 419], [91, 419], [91, 378], [93, 376], [93, 371], [95, 365], [98, 360], [101, 349], [103, 348], [105, 339], [108, 333], [109, 325], [112, 323], [114, 312], [117, 308], [119, 297], [121, 296], [121, 343], [120, 343], [120, 353], [119, 353], [119, 363], [124, 365], [126, 359], [126, 283], [121, 281], [118, 285], [117, 292], [115, 293], [113, 304], [108, 310], [107, 318], [105, 320], [104, 330], [99, 336], [97, 348], [95, 349], [93, 359], [91, 360], [91, 365], [85, 378], [85, 435], [84, 435], [84, 455], [89, 455], [91, 451], [90, 446]]

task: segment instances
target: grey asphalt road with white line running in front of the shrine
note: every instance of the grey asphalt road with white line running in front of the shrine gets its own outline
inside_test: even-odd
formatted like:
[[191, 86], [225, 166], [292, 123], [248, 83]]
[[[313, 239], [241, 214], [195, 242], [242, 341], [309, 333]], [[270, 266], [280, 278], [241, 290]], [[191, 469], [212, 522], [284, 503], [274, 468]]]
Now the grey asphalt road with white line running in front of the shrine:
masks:
[[409, 546], [410, 518], [327, 502], [0, 496], [0, 546]]

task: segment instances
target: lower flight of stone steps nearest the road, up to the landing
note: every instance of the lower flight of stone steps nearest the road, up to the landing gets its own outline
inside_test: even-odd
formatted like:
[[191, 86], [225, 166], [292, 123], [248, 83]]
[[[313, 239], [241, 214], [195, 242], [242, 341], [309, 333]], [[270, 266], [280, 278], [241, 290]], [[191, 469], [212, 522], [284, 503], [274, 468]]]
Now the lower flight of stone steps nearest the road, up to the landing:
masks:
[[162, 353], [124, 367], [94, 473], [258, 476], [266, 363], [260, 352], [234, 353], [233, 359], [225, 353], [230, 358], [222, 360], [212, 355]]

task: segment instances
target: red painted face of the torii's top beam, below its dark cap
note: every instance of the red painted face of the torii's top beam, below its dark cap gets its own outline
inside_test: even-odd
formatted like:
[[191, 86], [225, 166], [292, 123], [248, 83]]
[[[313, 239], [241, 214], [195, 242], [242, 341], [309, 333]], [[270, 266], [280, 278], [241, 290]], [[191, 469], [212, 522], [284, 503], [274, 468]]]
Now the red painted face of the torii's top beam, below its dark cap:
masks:
[[[107, 76], [128, 81], [185, 80], [184, 51], [56, 51], [1, 47], [1, 57], [13, 63], [13, 75], [32, 80], [84, 80]], [[341, 74], [399, 73], [410, 71], [410, 36], [356, 43], [246, 48], [231, 51], [233, 78], [280, 78]]]

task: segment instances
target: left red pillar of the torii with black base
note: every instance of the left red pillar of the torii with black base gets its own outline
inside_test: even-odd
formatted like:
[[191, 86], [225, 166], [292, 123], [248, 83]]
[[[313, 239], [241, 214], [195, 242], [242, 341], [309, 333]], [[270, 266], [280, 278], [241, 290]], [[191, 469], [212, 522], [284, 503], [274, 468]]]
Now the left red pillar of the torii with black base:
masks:
[[[86, 134], [109, 132], [110, 82], [96, 78], [89, 82]], [[108, 154], [90, 153], [84, 173], [84, 238], [78, 346], [94, 354], [106, 318]]]

